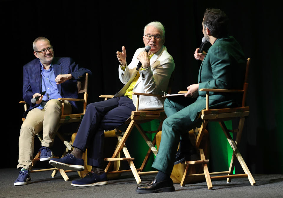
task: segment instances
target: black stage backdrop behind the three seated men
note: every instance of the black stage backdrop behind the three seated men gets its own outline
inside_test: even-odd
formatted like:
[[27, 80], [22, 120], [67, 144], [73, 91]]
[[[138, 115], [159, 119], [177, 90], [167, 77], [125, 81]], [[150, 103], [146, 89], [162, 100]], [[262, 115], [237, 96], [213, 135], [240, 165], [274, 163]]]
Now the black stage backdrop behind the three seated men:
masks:
[[[128, 63], [143, 47], [143, 27], [161, 21], [165, 46], [175, 61], [172, 92], [197, 83], [200, 61], [194, 59], [206, 8], [230, 18], [230, 35], [252, 64], [246, 119], [240, 151], [252, 173], [283, 174], [282, 58], [279, 5], [266, 1], [1, 1], [1, 167], [15, 167], [22, 123], [22, 66], [34, 59], [32, 42], [50, 39], [55, 56], [72, 57], [91, 69], [89, 102], [115, 94], [119, 81], [116, 51], [124, 45]], [[206, 48], [210, 44], [207, 44]], [[8, 88], [8, 89], [5, 89]], [[38, 141], [37, 141], [38, 142]]]

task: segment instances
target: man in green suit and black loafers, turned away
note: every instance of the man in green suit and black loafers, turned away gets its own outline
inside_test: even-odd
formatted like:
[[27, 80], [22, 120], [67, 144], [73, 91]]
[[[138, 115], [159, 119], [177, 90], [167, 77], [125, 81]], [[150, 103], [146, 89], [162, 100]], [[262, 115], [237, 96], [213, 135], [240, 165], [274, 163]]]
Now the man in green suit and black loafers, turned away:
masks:
[[[167, 119], [162, 125], [159, 151], [152, 165], [159, 170], [154, 180], [137, 187], [138, 193], [171, 192], [173, 186], [170, 174], [174, 163], [196, 159], [194, 148], [188, 141], [187, 132], [194, 129], [201, 119], [199, 112], [205, 109], [205, 92], [199, 89], [243, 89], [245, 56], [238, 42], [228, 36], [228, 17], [219, 9], [206, 9], [203, 18], [203, 35], [211, 43], [207, 54], [195, 51], [195, 58], [202, 60], [198, 74], [198, 84], [187, 87], [186, 97], [197, 97], [187, 107], [166, 99], [164, 109]], [[241, 96], [211, 92], [209, 106], [236, 107], [241, 104]], [[180, 141], [180, 149], [177, 147]]]

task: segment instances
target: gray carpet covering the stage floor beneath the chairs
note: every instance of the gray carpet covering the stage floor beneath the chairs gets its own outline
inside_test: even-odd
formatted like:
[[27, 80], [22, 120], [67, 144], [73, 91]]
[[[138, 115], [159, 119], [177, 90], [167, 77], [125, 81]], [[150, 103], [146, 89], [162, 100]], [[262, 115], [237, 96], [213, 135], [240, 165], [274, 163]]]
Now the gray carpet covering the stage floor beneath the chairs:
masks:
[[[51, 172], [32, 173], [32, 183], [24, 186], [14, 186], [17, 179], [17, 169], [0, 169], [0, 197], [283, 197], [283, 175], [254, 175], [255, 186], [251, 186], [248, 179], [232, 179], [212, 181], [213, 189], [208, 190], [206, 182], [187, 184], [180, 187], [174, 184], [175, 192], [136, 194], [136, 181], [130, 174], [122, 174], [120, 179], [109, 181], [107, 185], [95, 187], [73, 187], [71, 181], [79, 179], [76, 172], [68, 173], [68, 182], [60, 176], [51, 177]], [[141, 177], [142, 183], [150, 181], [154, 175]]]

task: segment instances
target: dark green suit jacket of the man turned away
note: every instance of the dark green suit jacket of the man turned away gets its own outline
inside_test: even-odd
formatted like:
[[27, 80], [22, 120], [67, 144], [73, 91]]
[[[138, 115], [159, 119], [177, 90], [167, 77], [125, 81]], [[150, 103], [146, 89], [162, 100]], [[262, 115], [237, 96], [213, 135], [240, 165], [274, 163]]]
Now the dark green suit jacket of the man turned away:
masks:
[[[217, 39], [209, 48], [200, 66], [199, 89], [243, 89], [246, 60], [242, 48], [232, 36]], [[189, 108], [193, 121], [205, 109], [205, 91], [199, 91], [196, 102]], [[210, 92], [211, 108], [236, 107], [241, 104], [241, 94]]]

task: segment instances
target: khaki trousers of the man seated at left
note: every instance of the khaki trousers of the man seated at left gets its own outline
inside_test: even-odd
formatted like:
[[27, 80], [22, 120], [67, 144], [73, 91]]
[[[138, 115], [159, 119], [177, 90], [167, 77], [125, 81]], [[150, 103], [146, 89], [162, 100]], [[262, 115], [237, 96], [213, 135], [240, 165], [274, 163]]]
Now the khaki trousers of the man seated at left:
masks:
[[[64, 101], [64, 114], [70, 114], [72, 106], [68, 101]], [[27, 114], [27, 118], [22, 124], [19, 137], [19, 164], [22, 167], [31, 170], [34, 136], [43, 130], [43, 139], [41, 145], [51, 147], [55, 134], [59, 128], [61, 115], [61, 102], [57, 99], [51, 99], [44, 109], [34, 108]]]

